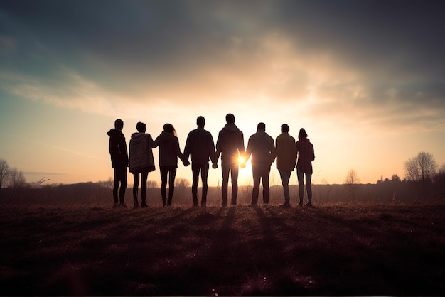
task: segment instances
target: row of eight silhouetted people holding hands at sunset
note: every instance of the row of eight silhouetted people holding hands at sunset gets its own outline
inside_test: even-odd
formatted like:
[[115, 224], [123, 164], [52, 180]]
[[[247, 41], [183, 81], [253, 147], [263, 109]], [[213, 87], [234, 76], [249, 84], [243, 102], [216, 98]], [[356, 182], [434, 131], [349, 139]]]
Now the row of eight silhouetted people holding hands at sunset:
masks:
[[[201, 206], [205, 207], [208, 192], [208, 171], [209, 161], [212, 168], [218, 168], [218, 159], [221, 156], [221, 171], [223, 174], [223, 207], [228, 202], [229, 177], [232, 182], [231, 204], [237, 205], [238, 191], [238, 171], [240, 166], [245, 167], [245, 163], [252, 157], [253, 207], [257, 206], [260, 183], [263, 188], [263, 202], [269, 203], [269, 174], [272, 163], [277, 159], [277, 169], [282, 180], [284, 191], [284, 204], [282, 207], [290, 207], [289, 180], [292, 171], [296, 168], [299, 183], [299, 206], [303, 206], [304, 182], [306, 181], [306, 193], [308, 203], [306, 207], [312, 206], [312, 161], [315, 159], [313, 144], [307, 138], [306, 131], [301, 128], [299, 140], [289, 135], [289, 126], [282, 124], [281, 134], [272, 139], [266, 133], [266, 125], [259, 123], [257, 132], [250, 136], [247, 148], [244, 144], [244, 135], [235, 125], [235, 116], [227, 114], [226, 124], [218, 134], [218, 139], [213, 141], [213, 136], [204, 129], [205, 119], [200, 116], [196, 119], [197, 129], [190, 131], [187, 136], [184, 152], [179, 147], [176, 130], [172, 124], [164, 124], [163, 131], [155, 140], [146, 133], [146, 124], [139, 122], [136, 124], [137, 132], [132, 134], [127, 143], [122, 133], [124, 122], [121, 119], [114, 121], [114, 129], [110, 129], [109, 153], [114, 168], [113, 198], [115, 207], [125, 207], [124, 198], [127, 188], [127, 168], [133, 174], [133, 198], [134, 207], [148, 207], [146, 203], [146, 185], [149, 172], [155, 171], [152, 148], [159, 147], [159, 169], [161, 172], [161, 197], [163, 206], [171, 206], [175, 188], [176, 168], [178, 168], [178, 158], [183, 166], [190, 165], [193, 175], [192, 198], [193, 206], [198, 207], [198, 182], [202, 181]], [[306, 180], [305, 180], [306, 179]], [[168, 181], [168, 197], [166, 195]], [[139, 183], [141, 183], [141, 204], [138, 201]], [[120, 185], [120, 189], [119, 189]]]

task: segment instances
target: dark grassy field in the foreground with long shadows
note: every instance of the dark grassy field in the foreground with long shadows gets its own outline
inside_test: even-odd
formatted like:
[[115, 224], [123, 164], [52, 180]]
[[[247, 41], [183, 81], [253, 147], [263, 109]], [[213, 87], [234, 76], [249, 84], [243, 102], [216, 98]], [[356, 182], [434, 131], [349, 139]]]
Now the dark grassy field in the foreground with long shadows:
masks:
[[445, 205], [1, 205], [1, 295], [445, 292]]

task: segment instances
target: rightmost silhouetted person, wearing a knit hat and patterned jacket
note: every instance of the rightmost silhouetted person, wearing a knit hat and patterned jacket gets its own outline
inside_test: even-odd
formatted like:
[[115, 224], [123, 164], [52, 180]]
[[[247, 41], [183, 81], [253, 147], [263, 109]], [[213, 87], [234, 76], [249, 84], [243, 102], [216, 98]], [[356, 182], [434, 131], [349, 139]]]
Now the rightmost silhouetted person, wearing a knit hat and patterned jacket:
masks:
[[296, 152], [298, 154], [298, 161], [296, 162], [296, 175], [299, 180], [299, 198], [300, 206], [303, 206], [304, 198], [304, 175], [306, 176], [306, 193], [308, 194], [308, 203], [306, 206], [312, 207], [312, 161], [315, 160], [313, 153], [313, 145], [308, 139], [308, 134], [301, 128], [299, 132], [299, 140], [296, 141]]

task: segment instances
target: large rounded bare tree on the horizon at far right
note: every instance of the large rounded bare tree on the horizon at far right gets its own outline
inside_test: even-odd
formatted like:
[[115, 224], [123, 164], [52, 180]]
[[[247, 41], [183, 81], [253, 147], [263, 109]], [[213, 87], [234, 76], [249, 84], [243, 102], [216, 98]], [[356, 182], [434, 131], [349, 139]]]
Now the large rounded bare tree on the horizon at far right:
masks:
[[432, 180], [437, 170], [437, 162], [431, 153], [421, 151], [404, 163], [407, 178], [417, 182]]

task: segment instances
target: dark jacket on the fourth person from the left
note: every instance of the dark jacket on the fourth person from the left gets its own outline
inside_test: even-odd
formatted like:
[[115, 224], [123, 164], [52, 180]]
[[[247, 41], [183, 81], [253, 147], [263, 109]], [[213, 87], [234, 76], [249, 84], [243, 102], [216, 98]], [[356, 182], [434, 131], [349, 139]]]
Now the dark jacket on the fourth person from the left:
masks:
[[209, 131], [198, 128], [190, 131], [187, 136], [184, 156], [196, 164], [208, 164], [209, 158], [212, 162], [215, 160], [215, 142]]

